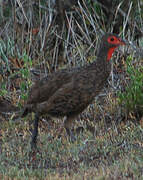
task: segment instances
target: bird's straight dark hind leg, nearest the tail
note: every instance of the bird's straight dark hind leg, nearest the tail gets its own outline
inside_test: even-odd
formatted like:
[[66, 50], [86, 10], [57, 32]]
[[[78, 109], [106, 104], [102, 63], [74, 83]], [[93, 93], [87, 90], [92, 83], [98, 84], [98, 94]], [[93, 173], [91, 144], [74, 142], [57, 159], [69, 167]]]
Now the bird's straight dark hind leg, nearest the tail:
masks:
[[37, 143], [37, 136], [38, 136], [38, 123], [39, 123], [39, 113], [35, 114], [35, 120], [34, 120], [34, 129], [32, 132], [32, 141], [31, 141], [31, 148], [36, 148]]

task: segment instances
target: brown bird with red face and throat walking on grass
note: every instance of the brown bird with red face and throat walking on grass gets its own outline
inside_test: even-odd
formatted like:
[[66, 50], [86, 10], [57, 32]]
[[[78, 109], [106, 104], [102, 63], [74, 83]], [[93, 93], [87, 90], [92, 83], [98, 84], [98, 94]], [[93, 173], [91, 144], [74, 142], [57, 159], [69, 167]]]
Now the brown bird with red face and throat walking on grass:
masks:
[[64, 127], [74, 140], [71, 123], [83, 112], [104, 87], [111, 72], [111, 56], [125, 41], [107, 33], [101, 39], [96, 60], [80, 68], [60, 70], [36, 82], [29, 92], [22, 117], [35, 112], [32, 147], [36, 147], [39, 116], [65, 117]]

